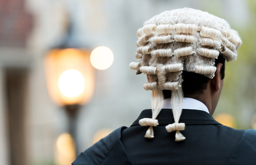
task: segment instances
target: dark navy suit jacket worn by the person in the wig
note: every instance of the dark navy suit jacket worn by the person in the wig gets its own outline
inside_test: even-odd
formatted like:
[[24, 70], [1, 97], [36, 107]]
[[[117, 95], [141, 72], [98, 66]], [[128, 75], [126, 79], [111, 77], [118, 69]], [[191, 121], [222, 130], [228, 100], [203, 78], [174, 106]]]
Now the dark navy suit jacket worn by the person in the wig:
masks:
[[138, 124], [144, 117], [152, 117], [150, 109], [82, 152], [73, 165], [256, 165], [256, 130], [226, 127], [204, 111], [183, 109], [186, 139], [175, 142], [175, 132], [165, 129], [174, 122], [172, 111], [162, 109], [154, 138], [147, 139], [148, 127]]

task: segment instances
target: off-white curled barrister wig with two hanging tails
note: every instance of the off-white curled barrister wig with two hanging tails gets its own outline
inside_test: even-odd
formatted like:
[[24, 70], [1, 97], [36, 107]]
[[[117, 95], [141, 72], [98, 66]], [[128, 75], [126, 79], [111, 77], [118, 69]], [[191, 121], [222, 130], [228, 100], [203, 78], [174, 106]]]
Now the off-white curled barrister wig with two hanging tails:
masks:
[[152, 90], [152, 118], [139, 121], [150, 126], [146, 138], [153, 138], [153, 127], [158, 125], [157, 115], [163, 105], [162, 90], [171, 90], [172, 112], [175, 123], [166, 126], [167, 132], [176, 131], [175, 141], [184, 140], [179, 132], [185, 129], [179, 123], [182, 113], [182, 71], [214, 77], [214, 60], [219, 54], [227, 60], [237, 58], [242, 41], [227, 21], [207, 12], [191, 8], [165, 11], [155, 15], [137, 31], [136, 58], [130, 68], [137, 74], [147, 74], [149, 82], [144, 89]]

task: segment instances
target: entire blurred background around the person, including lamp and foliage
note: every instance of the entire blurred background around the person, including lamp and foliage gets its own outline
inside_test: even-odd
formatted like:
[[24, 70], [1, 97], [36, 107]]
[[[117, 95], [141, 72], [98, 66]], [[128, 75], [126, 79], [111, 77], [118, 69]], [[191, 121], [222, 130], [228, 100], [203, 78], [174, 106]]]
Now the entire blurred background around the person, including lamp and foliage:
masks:
[[[238, 60], [227, 63], [214, 118], [256, 129], [255, 0], [0, 0], [1, 164], [69, 165], [129, 127], [151, 96], [142, 87], [146, 76], [128, 67], [137, 61], [136, 31], [152, 16], [184, 7], [238, 30], [243, 44]], [[68, 83], [76, 88], [65, 91]]]

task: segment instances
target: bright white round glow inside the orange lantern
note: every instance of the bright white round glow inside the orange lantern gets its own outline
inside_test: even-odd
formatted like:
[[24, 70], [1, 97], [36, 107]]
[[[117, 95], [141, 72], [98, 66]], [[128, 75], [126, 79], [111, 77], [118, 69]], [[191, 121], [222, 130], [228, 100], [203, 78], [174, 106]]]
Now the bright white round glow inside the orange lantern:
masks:
[[60, 75], [58, 85], [65, 96], [78, 96], [84, 91], [84, 76], [77, 70], [69, 69]]

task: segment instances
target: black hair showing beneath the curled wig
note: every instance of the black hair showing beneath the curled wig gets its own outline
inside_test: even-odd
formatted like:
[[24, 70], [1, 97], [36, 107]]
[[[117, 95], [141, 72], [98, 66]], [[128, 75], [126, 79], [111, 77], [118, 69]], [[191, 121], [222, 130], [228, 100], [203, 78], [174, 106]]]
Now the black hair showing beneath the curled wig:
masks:
[[[215, 59], [215, 66], [218, 63], [222, 63], [222, 68], [220, 70], [221, 79], [225, 77], [225, 58], [223, 56], [219, 56]], [[182, 73], [183, 82], [182, 82], [182, 90], [184, 94], [201, 94], [203, 93], [204, 89], [207, 88], [207, 84], [209, 82], [209, 78], [203, 76], [201, 74], [196, 74], [193, 72], [183, 71]], [[165, 99], [171, 97], [170, 90], [163, 90], [163, 94]]]

